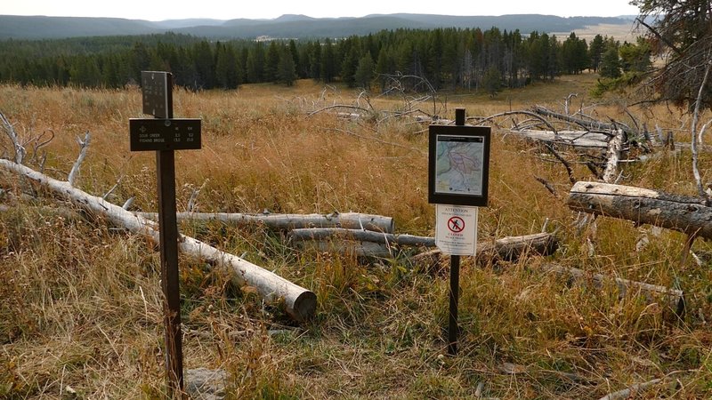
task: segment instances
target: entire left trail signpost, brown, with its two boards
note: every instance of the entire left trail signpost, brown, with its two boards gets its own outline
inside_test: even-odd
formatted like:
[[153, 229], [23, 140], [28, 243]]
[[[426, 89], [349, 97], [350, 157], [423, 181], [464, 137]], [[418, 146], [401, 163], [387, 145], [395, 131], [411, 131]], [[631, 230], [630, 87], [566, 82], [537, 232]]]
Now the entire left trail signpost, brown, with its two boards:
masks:
[[169, 398], [182, 398], [181, 296], [178, 274], [178, 223], [175, 208], [174, 150], [200, 148], [200, 120], [173, 118], [173, 76], [142, 71], [143, 113], [129, 120], [131, 151], [156, 151], [161, 286], [165, 297], [166, 374]]

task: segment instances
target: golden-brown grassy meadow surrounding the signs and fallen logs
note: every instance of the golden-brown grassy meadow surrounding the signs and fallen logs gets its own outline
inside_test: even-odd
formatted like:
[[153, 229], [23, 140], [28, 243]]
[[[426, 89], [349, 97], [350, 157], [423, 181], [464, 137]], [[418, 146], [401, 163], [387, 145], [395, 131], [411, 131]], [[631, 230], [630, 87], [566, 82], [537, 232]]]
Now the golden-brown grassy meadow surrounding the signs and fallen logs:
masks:
[[[433, 236], [427, 202], [427, 125], [376, 111], [407, 107], [454, 118], [490, 116], [535, 104], [604, 122], [658, 124], [690, 141], [691, 118], [677, 108], [630, 106], [625, 94], [591, 99], [596, 76], [505, 91], [369, 97], [339, 86], [246, 85], [234, 92], [174, 92], [176, 117], [203, 119], [201, 150], [176, 152], [177, 207], [199, 189], [199, 212], [367, 212], [391, 216], [398, 233]], [[361, 94], [361, 95], [360, 95]], [[91, 143], [76, 186], [132, 210], [156, 211], [152, 152], [128, 149], [128, 118], [143, 117], [139, 88], [118, 91], [0, 86], [0, 112], [28, 140], [25, 164], [66, 180], [77, 136]], [[372, 109], [344, 119], [335, 104]], [[630, 115], [627, 114], [630, 113]], [[516, 117], [519, 122], [525, 119]], [[706, 114], [702, 122], [710, 118]], [[228, 398], [599, 398], [661, 380], [643, 398], [712, 396], [712, 246], [698, 239], [681, 264], [683, 234], [598, 218], [577, 228], [564, 204], [571, 186], [546, 148], [493, 128], [490, 205], [479, 236], [494, 240], [546, 229], [561, 244], [553, 256], [475, 265], [461, 272], [459, 354], [447, 356], [447, 269], [415, 265], [418, 249], [387, 260], [298, 250], [262, 226], [182, 223], [183, 234], [242, 256], [318, 296], [316, 316], [296, 324], [254, 290], [205, 262], [181, 257], [186, 368], [228, 372]], [[54, 139], [33, 150], [41, 135]], [[703, 140], [710, 145], [708, 136]], [[2, 136], [4, 156], [12, 145]], [[566, 149], [562, 155], [577, 158]], [[691, 153], [656, 150], [645, 163], [621, 164], [621, 184], [695, 195]], [[37, 153], [37, 154], [35, 154]], [[596, 180], [575, 164], [578, 180]], [[712, 156], [700, 153], [702, 179]], [[557, 196], [535, 179], [543, 178]], [[159, 255], [150, 241], [101, 220], [73, 218], [43, 188], [0, 171], [0, 398], [160, 398], [165, 390]], [[643, 236], [649, 244], [637, 251]], [[422, 251], [423, 249], [420, 249]], [[686, 313], [615, 284], [569, 285], [540, 272], [567, 267], [678, 287]], [[446, 263], [447, 264], [447, 263]]]

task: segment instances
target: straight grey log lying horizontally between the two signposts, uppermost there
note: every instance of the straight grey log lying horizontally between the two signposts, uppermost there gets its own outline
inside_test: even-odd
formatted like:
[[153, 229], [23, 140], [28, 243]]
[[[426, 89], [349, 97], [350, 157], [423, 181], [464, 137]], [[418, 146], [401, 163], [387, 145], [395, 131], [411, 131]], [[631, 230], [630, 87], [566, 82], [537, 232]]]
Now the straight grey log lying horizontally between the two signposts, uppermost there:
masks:
[[[143, 218], [158, 220], [156, 212], [136, 212]], [[331, 214], [243, 214], [230, 212], [178, 212], [178, 220], [221, 221], [225, 224], [264, 224], [273, 229], [295, 228], [349, 228], [392, 233], [393, 219], [382, 215], [359, 212], [334, 212]]]

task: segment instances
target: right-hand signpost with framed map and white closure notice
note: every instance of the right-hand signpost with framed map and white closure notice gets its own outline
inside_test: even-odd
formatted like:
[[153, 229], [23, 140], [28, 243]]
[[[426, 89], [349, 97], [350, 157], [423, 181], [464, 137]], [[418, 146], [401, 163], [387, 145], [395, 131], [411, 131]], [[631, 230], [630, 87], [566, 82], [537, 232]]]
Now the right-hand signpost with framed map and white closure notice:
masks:
[[436, 205], [435, 244], [450, 254], [448, 354], [457, 354], [457, 300], [460, 256], [474, 255], [478, 207], [486, 206], [490, 176], [490, 128], [465, 126], [457, 108], [456, 126], [430, 125], [428, 203]]

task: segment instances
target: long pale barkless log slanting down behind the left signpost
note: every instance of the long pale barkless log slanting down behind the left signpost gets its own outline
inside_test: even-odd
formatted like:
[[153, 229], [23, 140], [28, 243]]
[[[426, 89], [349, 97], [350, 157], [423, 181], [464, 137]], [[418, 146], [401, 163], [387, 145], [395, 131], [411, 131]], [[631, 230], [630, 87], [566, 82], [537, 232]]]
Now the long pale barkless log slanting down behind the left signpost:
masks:
[[[45, 188], [50, 188], [58, 196], [84, 209], [85, 212], [102, 216], [112, 224], [133, 233], [149, 236], [155, 244], [158, 244], [158, 224], [151, 220], [127, 212], [116, 204], [104, 201], [101, 197], [89, 195], [72, 187], [69, 182], [54, 180], [24, 165], [0, 159], [0, 166], [30, 180], [35, 180]], [[180, 236], [178, 248], [181, 252], [204, 258], [219, 267], [230, 268], [235, 272], [234, 275], [240, 284], [254, 286], [265, 300], [284, 300], [287, 313], [297, 321], [310, 318], [316, 310], [316, 295], [313, 292], [251, 262], [222, 252], [190, 236]]]

